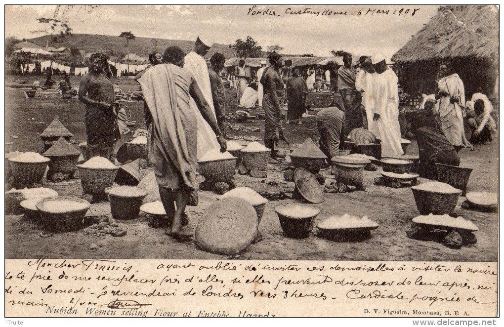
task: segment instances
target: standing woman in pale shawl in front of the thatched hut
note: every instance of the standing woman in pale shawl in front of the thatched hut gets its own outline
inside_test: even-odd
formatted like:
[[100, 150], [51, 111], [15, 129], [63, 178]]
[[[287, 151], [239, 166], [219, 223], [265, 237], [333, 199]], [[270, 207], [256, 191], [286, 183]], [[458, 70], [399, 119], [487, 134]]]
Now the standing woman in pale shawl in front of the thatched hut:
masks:
[[472, 148], [464, 134], [466, 103], [464, 83], [458, 74], [452, 73], [452, 65], [446, 61], [439, 66], [437, 74], [438, 114], [441, 130], [448, 141], [460, 151], [462, 148]]

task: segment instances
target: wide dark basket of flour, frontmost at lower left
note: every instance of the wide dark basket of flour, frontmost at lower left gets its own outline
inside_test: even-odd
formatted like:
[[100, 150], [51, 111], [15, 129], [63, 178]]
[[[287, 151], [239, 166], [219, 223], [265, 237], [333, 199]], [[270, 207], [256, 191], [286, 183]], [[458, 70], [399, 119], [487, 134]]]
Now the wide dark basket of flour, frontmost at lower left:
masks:
[[[44, 203], [52, 200], [71, 200], [75, 202], [80, 202], [86, 204], [87, 207], [80, 210], [68, 211], [68, 212], [47, 212], [44, 210]], [[77, 230], [82, 227], [82, 221], [86, 212], [91, 207], [91, 204], [86, 200], [71, 197], [56, 197], [56, 198], [44, 198], [41, 199], [39, 203], [35, 206], [40, 212], [42, 225], [51, 231], [55, 232], [68, 232]]]

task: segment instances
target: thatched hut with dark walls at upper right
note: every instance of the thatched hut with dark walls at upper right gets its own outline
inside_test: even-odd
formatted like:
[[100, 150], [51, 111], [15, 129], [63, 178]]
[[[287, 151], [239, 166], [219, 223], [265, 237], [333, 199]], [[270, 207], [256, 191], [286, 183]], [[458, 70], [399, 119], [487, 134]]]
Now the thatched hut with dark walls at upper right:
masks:
[[466, 97], [498, 88], [499, 13], [495, 6], [443, 6], [392, 56], [403, 89], [433, 93], [439, 64], [452, 62]]

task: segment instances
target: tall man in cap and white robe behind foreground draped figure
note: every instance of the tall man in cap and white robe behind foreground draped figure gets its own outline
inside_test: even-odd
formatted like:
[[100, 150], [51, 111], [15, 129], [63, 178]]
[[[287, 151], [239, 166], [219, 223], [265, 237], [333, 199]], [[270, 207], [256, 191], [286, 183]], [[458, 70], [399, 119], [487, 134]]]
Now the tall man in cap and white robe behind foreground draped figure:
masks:
[[[212, 112], [215, 115], [215, 109], [213, 105], [212, 99], [212, 89], [210, 87], [210, 77], [208, 75], [208, 66], [207, 61], [203, 58], [204, 55], [208, 53], [208, 50], [212, 47], [212, 42], [207, 40], [203, 40], [201, 37], [196, 39], [194, 44], [194, 48], [191, 52], [185, 55], [185, 63], [184, 69], [191, 72], [194, 79], [197, 81], [198, 86], [200, 87], [205, 100], [208, 105], [212, 109]], [[198, 107], [196, 106], [196, 102], [193, 99], [191, 101], [191, 109], [193, 109], [196, 113], [196, 120], [198, 124], [198, 134], [197, 134], [197, 158], [201, 158], [205, 155], [208, 150], [212, 150], [219, 147], [217, 143], [217, 139], [215, 137], [212, 128], [210, 125], [203, 119], [201, 114], [198, 111]], [[215, 116], [214, 116], [215, 118]]]

